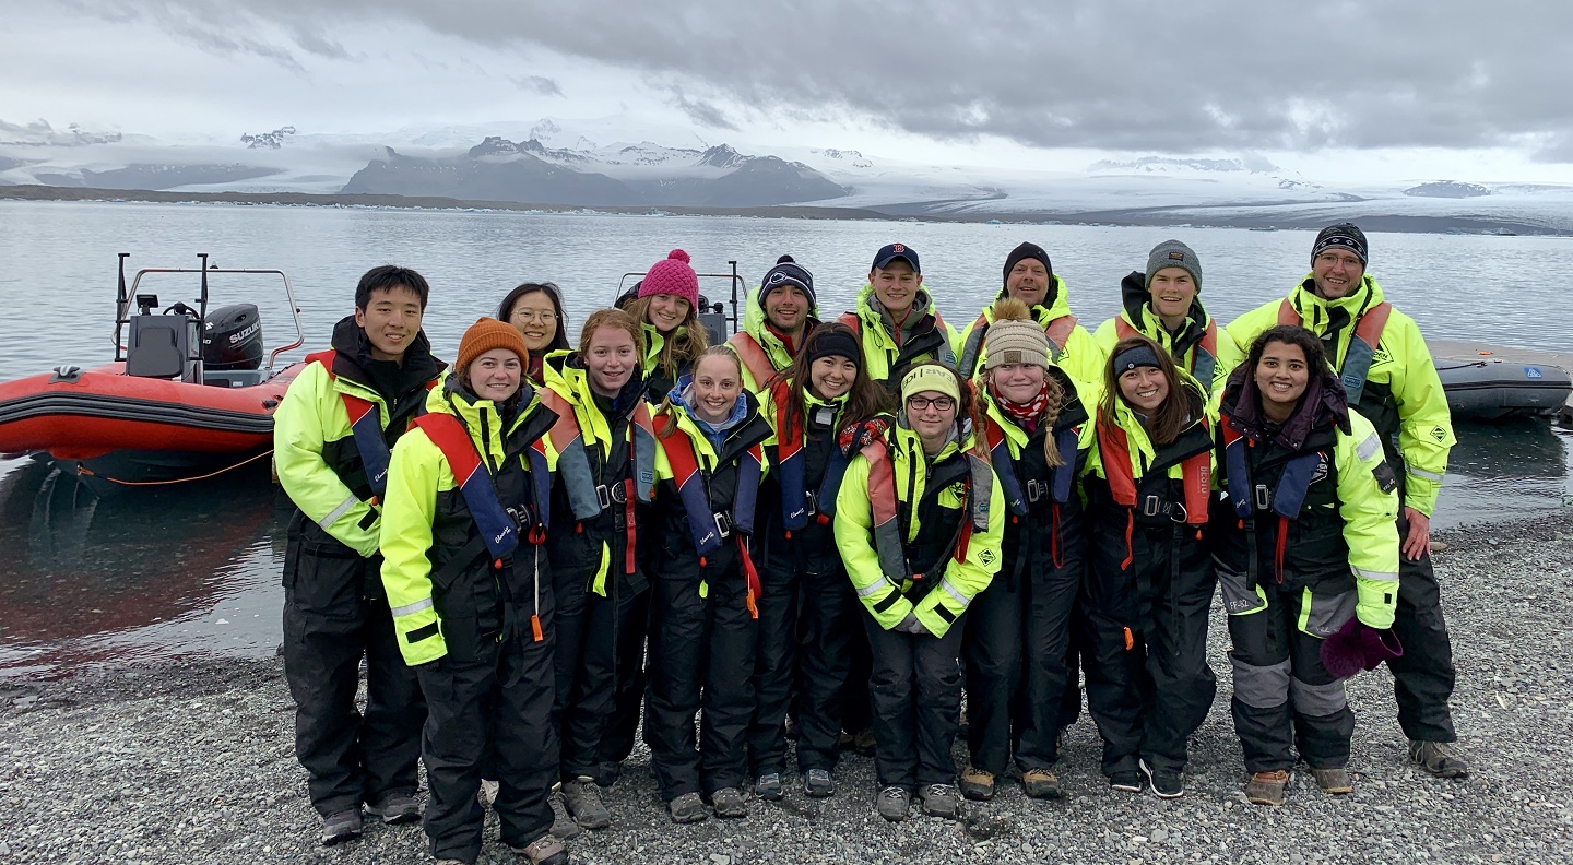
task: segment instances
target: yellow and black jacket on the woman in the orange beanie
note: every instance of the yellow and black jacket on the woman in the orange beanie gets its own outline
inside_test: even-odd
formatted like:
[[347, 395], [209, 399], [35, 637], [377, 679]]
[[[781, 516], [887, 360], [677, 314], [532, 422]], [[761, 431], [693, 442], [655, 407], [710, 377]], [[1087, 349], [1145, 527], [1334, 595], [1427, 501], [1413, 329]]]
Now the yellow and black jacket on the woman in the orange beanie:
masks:
[[[547, 572], [543, 544], [551, 530], [554, 466], [530, 444], [557, 421], [529, 384], [511, 418], [453, 381], [431, 393], [426, 410], [461, 421], [472, 450], [461, 450], [456, 466], [455, 451], [428, 431], [429, 421], [393, 447], [382, 511], [382, 585], [400, 651], [412, 667], [450, 651], [473, 651], [484, 634], [510, 639], [532, 628]], [[495, 495], [521, 538], [516, 549], [500, 554], [492, 546], [499, 538], [483, 533], [483, 527], [497, 528], [472, 510], [477, 492], [473, 486], [467, 492], [467, 483]]]

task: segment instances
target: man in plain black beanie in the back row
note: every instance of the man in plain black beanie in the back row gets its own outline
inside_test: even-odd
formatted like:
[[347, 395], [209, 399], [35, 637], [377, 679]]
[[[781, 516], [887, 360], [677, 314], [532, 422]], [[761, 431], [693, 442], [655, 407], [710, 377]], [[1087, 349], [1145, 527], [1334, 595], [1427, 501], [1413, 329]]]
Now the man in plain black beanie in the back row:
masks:
[[[1015, 297], [1032, 310], [1049, 338], [1055, 366], [1081, 382], [1101, 381], [1103, 351], [1093, 343], [1087, 329], [1076, 324], [1070, 291], [1049, 264], [1049, 253], [1037, 244], [1019, 244], [1005, 256], [1004, 282], [996, 299]], [[989, 307], [985, 307], [972, 324], [955, 335], [955, 354], [960, 359], [956, 368], [966, 377], [972, 377], [988, 355], [988, 332], [994, 322], [989, 316]]]

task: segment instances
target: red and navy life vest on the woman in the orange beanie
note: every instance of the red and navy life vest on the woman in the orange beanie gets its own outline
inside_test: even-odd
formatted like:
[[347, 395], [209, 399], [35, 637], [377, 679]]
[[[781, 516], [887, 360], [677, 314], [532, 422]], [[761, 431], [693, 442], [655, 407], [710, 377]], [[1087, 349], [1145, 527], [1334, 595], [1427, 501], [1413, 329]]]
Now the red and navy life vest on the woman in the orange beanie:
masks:
[[[426, 432], [431, 444], [437, 445], [444, 459], [448, 461], [453, 480], [459, 484], [459, 494], [464, 495], [464, 506], [470, 511], [481, 543], [486, 544], [486, 552], [491, 555], [491, 568], [502, 571], [503, 560], [519, 549], [518, 525], [521, 521], [516, 521], [514, 514], [508, 513], [497, 499], [497, 486], [486, 472], [469, 429], [450, 414], [422, 415], [415, 418], [415, 426]], [[546, 514], [551, 506], [551, 475], [546, 472], [544, 459], [538, 464], [532, 459], [530, 475], [535, 514], [527, 514], [522, 522], [530, 524], [529, 541], [540, 546], [546, 543]], [[540, 572], [535, 577], [540, 579]], [[540, 610], [530, 615], [530, 631], [535, 642], [544, 639]]]

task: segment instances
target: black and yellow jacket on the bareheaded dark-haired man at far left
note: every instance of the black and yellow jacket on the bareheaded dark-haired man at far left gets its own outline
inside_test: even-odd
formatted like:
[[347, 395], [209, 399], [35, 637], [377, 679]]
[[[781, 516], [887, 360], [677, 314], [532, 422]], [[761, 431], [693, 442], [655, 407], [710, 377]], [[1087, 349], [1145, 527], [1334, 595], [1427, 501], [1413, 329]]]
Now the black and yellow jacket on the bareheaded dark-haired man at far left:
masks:
[[[444, 365], [418, 333], [401, 365], [404, 392], [390, 404], [355, 360], [363, 341], [354, 316], [346, 316], [333, 329], [333, 349], [311, 355], [315, 362], [289, 382], [274, 414], [274, 461], [280, 486], [305, 521], [370, 558], [378, 552], [378, 488], [385, 477], [373, 483], [362, 448], [385, 466]], [[351, 407], [360, 418], [359, 442]]]

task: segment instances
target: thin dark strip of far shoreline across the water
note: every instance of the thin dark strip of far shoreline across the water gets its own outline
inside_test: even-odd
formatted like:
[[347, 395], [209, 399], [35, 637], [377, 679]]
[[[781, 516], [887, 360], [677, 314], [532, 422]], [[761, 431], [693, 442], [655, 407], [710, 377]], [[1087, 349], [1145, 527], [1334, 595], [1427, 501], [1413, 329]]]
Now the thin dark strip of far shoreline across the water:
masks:
[[[892, 203], [884, 209], [772, 204], [758, 208], [681, 208], [681, 206], [582, 206], [541, 204], [521, 201], [461, 200], [447, 197], [367, 195], [367, 193], [315, 193], [315, 192], [162, 192], [146, 189], [93, 189], [69, 186], [0, 186], [0, 201], [101, 201], [101, 203], [160, 203], [160, 204], [238, 204], [278, 208], [373, 208], [373, 209], [425, 209], [425, 211], [488, 211], [525, 214], [598, 214], [598, 215], [713, 215], [753, 219], [816, 219], [816, 220], [871, 220], [871, 222], [958, 222], [999, 225], [1093, 225], [1117, 228], [1235, 228], [1255, 231], [1317, 231], [1328, 223], [1326, 215], [1295, 215], [1269, 212], [1254, 217], [1232, 214], [1219, 222], [1206, 217], [1208, 211], [1268, 209], [1280, 204], [1189, 204], [1144, 206], [1100, 211], [978, 211], [966, 214], [934, 214], [923, 208], [938, 201]], [[1331, 204], [1331, 203], [1329, 203]], [[1408, 234], [1482, 234], [1482, 236], [1537, 236], [1573, 237], [1573, 233], [1557, 231], [1543, 225], [1494, 217], [1431, 217], [1402, 214], [1369, 214], [1359, 217], [1365, 231]]]

